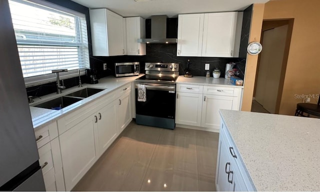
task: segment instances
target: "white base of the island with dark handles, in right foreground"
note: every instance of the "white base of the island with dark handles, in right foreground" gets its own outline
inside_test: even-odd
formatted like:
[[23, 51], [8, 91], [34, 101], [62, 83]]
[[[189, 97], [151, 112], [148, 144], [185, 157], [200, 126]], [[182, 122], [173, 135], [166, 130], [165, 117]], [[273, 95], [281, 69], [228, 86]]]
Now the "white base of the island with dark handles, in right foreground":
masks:
[[243, 165], [238, 160], [239, 153], [225, 132], [225, 125], [221, 123], [215, 185], [217, 191], [252, 191], [248, 176]]

